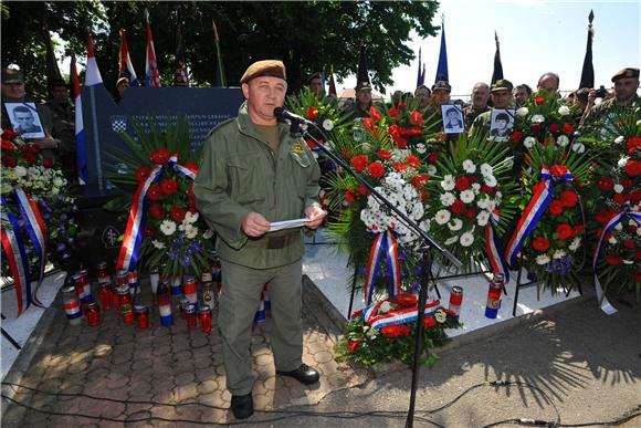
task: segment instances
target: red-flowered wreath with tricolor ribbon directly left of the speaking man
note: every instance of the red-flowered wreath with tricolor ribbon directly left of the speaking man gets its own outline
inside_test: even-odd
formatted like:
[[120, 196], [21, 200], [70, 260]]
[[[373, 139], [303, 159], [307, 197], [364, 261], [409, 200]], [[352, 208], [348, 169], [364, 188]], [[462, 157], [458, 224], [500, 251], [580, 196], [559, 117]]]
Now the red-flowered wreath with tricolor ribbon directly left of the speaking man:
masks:
[[[190, 150], [187, 126], [179, 121], [161, 132], [150, 123], [149, 134], [137, 125], [134, 128], [139, 143], [123, 133], [129, 150], [112, 148], [109, 153], [112, 169], [117, 173], [107, 178], [128, 192], [127, 201], [111, 203], [112, 208], [129, 209], [118, 269], [134, 269], [129, 260], [138, 259], [144, 267], [160, 267], [166, 278], [199, 276], [212, 258], [213, 232], [196, 210], [191, 188], [198, 154]], [[137, 223], [144, 227], [136, 228]]]

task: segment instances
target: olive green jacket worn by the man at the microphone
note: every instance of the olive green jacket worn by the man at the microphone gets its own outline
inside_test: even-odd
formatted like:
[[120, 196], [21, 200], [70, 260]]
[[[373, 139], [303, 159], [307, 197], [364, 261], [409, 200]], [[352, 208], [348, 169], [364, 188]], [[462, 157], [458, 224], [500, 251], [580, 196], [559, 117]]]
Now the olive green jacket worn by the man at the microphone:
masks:
[[[316, 159], [287, 124], [279, 124], [279, 131], [280, 148], [274, 156], [251, 122], [245, 102], [237, 118], [217, 126], [204, 140], [193, 181], [196, 206], [220, 238], [220, 257], [232, 263], [269, 269], [303, 255], [301, 228], [269, 232], [251, 241], [241, 229], [248, 212], [259, 212], [271, 222], [292, 220], [305, 217], [305, 208], [317, 203], [320, 169]], [[283, 236], [288, 237], [287, 246], [266, 248], [270, 237]]]

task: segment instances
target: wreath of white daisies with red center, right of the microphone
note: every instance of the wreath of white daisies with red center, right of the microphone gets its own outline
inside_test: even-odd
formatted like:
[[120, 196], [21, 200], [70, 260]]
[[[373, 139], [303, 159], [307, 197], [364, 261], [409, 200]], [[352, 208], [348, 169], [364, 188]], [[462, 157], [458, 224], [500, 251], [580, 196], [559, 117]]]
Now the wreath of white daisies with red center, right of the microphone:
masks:
[[441, 176], [428, 186], [433, 199], [428, 229], [463, 262], [464, 270], [473, 261], [490, 260], [494, 265], [503, 255], [494, 237], [503, 234], [514, 218], [511, 196], [516, 190], [507, 152], [482, 136], [461, 135], [451, 143], [450, 156], [438, 161]]

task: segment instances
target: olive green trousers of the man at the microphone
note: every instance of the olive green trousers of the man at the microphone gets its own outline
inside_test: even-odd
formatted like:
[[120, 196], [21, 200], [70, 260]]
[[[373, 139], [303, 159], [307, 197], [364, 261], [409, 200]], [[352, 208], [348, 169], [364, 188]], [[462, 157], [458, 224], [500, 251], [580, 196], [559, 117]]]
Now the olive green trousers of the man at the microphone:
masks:
[[271, 343], [276, 370], [290, 372], [303, 364], [302, 272], [302, 259], [271, 269], [221, 261], [218, 324], [227, 388], [232, 395], [246, 395], [253, 388], [252, 325], [265, 284], [272, 309]]

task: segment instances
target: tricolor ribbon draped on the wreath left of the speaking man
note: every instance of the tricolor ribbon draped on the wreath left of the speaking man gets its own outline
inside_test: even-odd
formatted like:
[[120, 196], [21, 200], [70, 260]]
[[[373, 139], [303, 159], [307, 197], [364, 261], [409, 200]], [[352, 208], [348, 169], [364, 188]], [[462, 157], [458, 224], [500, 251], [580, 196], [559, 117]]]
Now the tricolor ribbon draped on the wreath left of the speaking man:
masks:
[[127, 228], [125, 229], [123, 246], [120, 247], [118, 263], [116, 265], [116, 269], [118, 270], [133, 271], [136, 269], [140, 243], [143, 242], [143, 237], [145, 234], [147, 191], [149, 190], [149, 187], [151, 187], [151, 185], [162, 176], [165, 166], [168, 166], [190, 180], [193, 180], [198, 173], [197, 170], [179, 165], [178, 156], [172, 155], [166, 164], [156, 165], [154, 169], [151, 169], [151, 173], [149, 173], [149, 176], [140, 181], [136, 192], [134, 194], [134, 198], [132, 199], [129, 219], [127, 220]]

